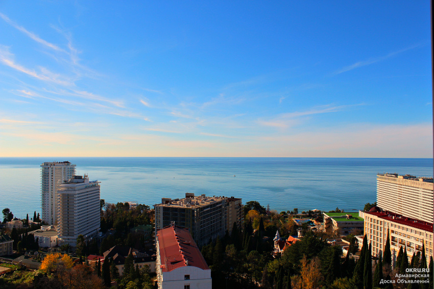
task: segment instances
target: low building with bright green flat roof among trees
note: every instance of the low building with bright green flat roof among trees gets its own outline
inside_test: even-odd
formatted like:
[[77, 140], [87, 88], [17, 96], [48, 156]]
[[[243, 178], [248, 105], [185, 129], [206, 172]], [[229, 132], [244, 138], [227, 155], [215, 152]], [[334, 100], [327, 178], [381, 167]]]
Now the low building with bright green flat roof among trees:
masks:
[[353, 231], [363, 231], [363, 218], [358, 212], [323, 213], [326, 232], [336, 232], [346, 236]]

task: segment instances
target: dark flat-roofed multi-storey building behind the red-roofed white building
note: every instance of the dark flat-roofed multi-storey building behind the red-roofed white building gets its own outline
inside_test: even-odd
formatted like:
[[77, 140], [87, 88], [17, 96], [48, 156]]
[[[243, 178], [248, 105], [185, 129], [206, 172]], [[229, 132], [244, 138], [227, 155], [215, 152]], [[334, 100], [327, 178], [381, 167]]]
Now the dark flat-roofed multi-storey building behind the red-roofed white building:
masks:
[[186, 193], [184, 199], [161, 199], [155, 208], [155, 234], [157, 230], [170, 226], [172, 222], [188, 228], [198, 246], [206, 245], [210, 239], [229, 233], [235, 222], [242, 221], [241, 199], [227, 197], [206, 197]]

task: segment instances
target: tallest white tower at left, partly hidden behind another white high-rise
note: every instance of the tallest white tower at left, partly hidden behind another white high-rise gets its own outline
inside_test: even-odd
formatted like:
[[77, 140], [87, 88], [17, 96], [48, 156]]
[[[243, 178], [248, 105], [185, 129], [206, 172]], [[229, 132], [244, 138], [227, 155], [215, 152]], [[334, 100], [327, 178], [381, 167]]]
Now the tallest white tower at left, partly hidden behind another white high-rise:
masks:
[[42, 221], [57, 225], [57, 190], [59, 185], [76, 174], [76, 165], [69, 161], [44, 162], [41, 164]]

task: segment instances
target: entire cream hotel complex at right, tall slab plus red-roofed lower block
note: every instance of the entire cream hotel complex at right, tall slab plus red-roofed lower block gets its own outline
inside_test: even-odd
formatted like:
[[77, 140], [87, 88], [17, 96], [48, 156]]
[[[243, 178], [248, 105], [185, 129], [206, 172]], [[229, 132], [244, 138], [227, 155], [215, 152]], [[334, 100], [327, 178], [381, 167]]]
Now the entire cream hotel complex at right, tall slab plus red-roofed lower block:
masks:
[[378, 174], [377, 207], [359, 212], [372, 255], [382, 254], [389, 231], [393, 260], [400, 247], [406, 248], [408, 258], [423, 245], [425, 254], [433, 256], [433, 196], [432, 178]]

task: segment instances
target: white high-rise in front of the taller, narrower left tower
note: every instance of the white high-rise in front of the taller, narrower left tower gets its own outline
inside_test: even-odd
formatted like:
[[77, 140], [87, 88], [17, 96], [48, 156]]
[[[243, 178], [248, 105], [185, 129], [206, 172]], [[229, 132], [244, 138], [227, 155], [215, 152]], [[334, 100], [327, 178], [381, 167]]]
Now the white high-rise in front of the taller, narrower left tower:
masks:
[[74, 176], [59, 185], [59, 243], [76, 245], [83, 235], [93, 237], [100, 230], [100, 183], [89, 181], [87, 175]]

